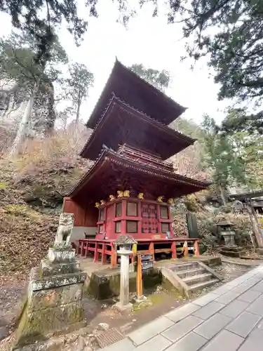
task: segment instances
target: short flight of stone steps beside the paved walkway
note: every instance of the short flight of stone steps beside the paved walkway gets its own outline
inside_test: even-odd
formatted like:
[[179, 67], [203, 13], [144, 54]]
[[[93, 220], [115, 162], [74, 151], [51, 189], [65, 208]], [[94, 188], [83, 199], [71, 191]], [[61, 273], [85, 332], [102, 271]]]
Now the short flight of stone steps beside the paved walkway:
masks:
[[164, 279], [167, 279], [170, 284], [187, 297], [189, 297], [189, 294], [220, 282], [222, 279], [220, 274], [217, 274], [200, 261], [169, 265], [168, 267], [162, 267], [161, 272]]

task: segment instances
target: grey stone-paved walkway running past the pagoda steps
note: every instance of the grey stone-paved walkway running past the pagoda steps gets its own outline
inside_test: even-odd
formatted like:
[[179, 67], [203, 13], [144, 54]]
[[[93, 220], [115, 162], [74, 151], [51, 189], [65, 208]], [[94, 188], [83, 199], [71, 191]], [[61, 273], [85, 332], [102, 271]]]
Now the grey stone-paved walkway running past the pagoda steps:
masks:
[[103, 351], [262, 351], [263, 265]]

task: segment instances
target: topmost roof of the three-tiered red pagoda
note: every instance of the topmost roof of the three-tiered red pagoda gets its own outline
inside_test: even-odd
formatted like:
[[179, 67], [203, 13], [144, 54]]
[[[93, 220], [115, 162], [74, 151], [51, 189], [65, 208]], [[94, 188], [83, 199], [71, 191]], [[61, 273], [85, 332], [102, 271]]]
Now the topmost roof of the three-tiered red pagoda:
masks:
[[88, 119], [86, 124], [88, 128], [95, 128], [113, 93], [129, 105], [166, 125], [186, 110], [186, 107], [182, 107], [116, 60], [102, 94]]

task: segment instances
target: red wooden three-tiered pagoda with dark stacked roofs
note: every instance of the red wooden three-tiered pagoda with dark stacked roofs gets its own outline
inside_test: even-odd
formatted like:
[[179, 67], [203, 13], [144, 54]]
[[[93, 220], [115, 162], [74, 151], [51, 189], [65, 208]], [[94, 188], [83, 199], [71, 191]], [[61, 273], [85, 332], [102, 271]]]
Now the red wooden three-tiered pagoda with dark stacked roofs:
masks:
[[114, 242], [129, 234], [140, 252], [176, 257], [176, 242], [185, 238], [173, 233], [173, 199], [210, 185], [178, 175], [164, 161], [195, 141], [168, 127], [184, 110], [116, 60], [81, 151], [95, 162], [63, 204], [62, 211], [74, 213], [79, 253], [102, 263], [110, 257], [115, 266]]

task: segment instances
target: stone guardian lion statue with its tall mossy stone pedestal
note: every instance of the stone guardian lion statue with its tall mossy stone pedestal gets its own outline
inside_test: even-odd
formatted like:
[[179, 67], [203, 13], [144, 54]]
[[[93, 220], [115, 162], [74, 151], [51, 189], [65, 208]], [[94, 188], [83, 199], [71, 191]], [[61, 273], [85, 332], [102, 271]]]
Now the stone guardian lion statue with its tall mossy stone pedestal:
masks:
[[82, 290], [86, 279], [70, 244], [72, 213], [61, 213], [55, 243], [39, 267], [30, 273], [27, 302], [15, 331], [15, 344], [25, 345], [49, 333], [85, 326]]

